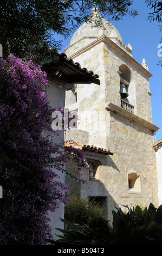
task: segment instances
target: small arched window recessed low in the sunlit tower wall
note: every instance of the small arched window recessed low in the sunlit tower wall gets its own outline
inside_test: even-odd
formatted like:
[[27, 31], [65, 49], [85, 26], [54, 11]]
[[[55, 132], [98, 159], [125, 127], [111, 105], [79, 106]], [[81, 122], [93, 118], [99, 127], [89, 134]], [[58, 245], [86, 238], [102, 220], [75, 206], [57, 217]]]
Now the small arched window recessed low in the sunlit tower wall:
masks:
[[135, 172], [128, 173], [128, 190], [132, 193], [141, 192], [141, 178]]

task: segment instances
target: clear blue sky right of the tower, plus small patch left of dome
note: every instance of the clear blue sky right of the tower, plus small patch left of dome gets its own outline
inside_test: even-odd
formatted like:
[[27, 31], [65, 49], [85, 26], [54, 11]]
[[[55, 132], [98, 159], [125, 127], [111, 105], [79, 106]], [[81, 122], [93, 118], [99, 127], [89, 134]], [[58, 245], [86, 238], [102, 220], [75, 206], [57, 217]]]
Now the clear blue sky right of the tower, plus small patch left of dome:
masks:
[[[152, 119], [153, 124], [160, 127], [155, 133], [155, 140], [158, 141], [162, 138], [162, 66], [157, 65], [160, 60], [162, 62], [162, 57], [158, 56], [161, 33], [158, 22], [147, 20], [151, 10], [147, 8], [143, 0], [134, 0], [132, 8], [138, 10], [138, 16], [135, 18], [125, 16], [122, 21], [113, 21], [112, 24], [118, 29], [124, 44], [129, 43], [132, 46], [133, 58], [140, 64], [145, 58], [149, 71], [153, 75], [150, 78]], [[62, 51], [69, 45], [72, 35], [63, 40]], [[58, 38], [58, 40], [61, 39], [63, 38]], [[162, 50], [160, 52], [162, 53]]]

